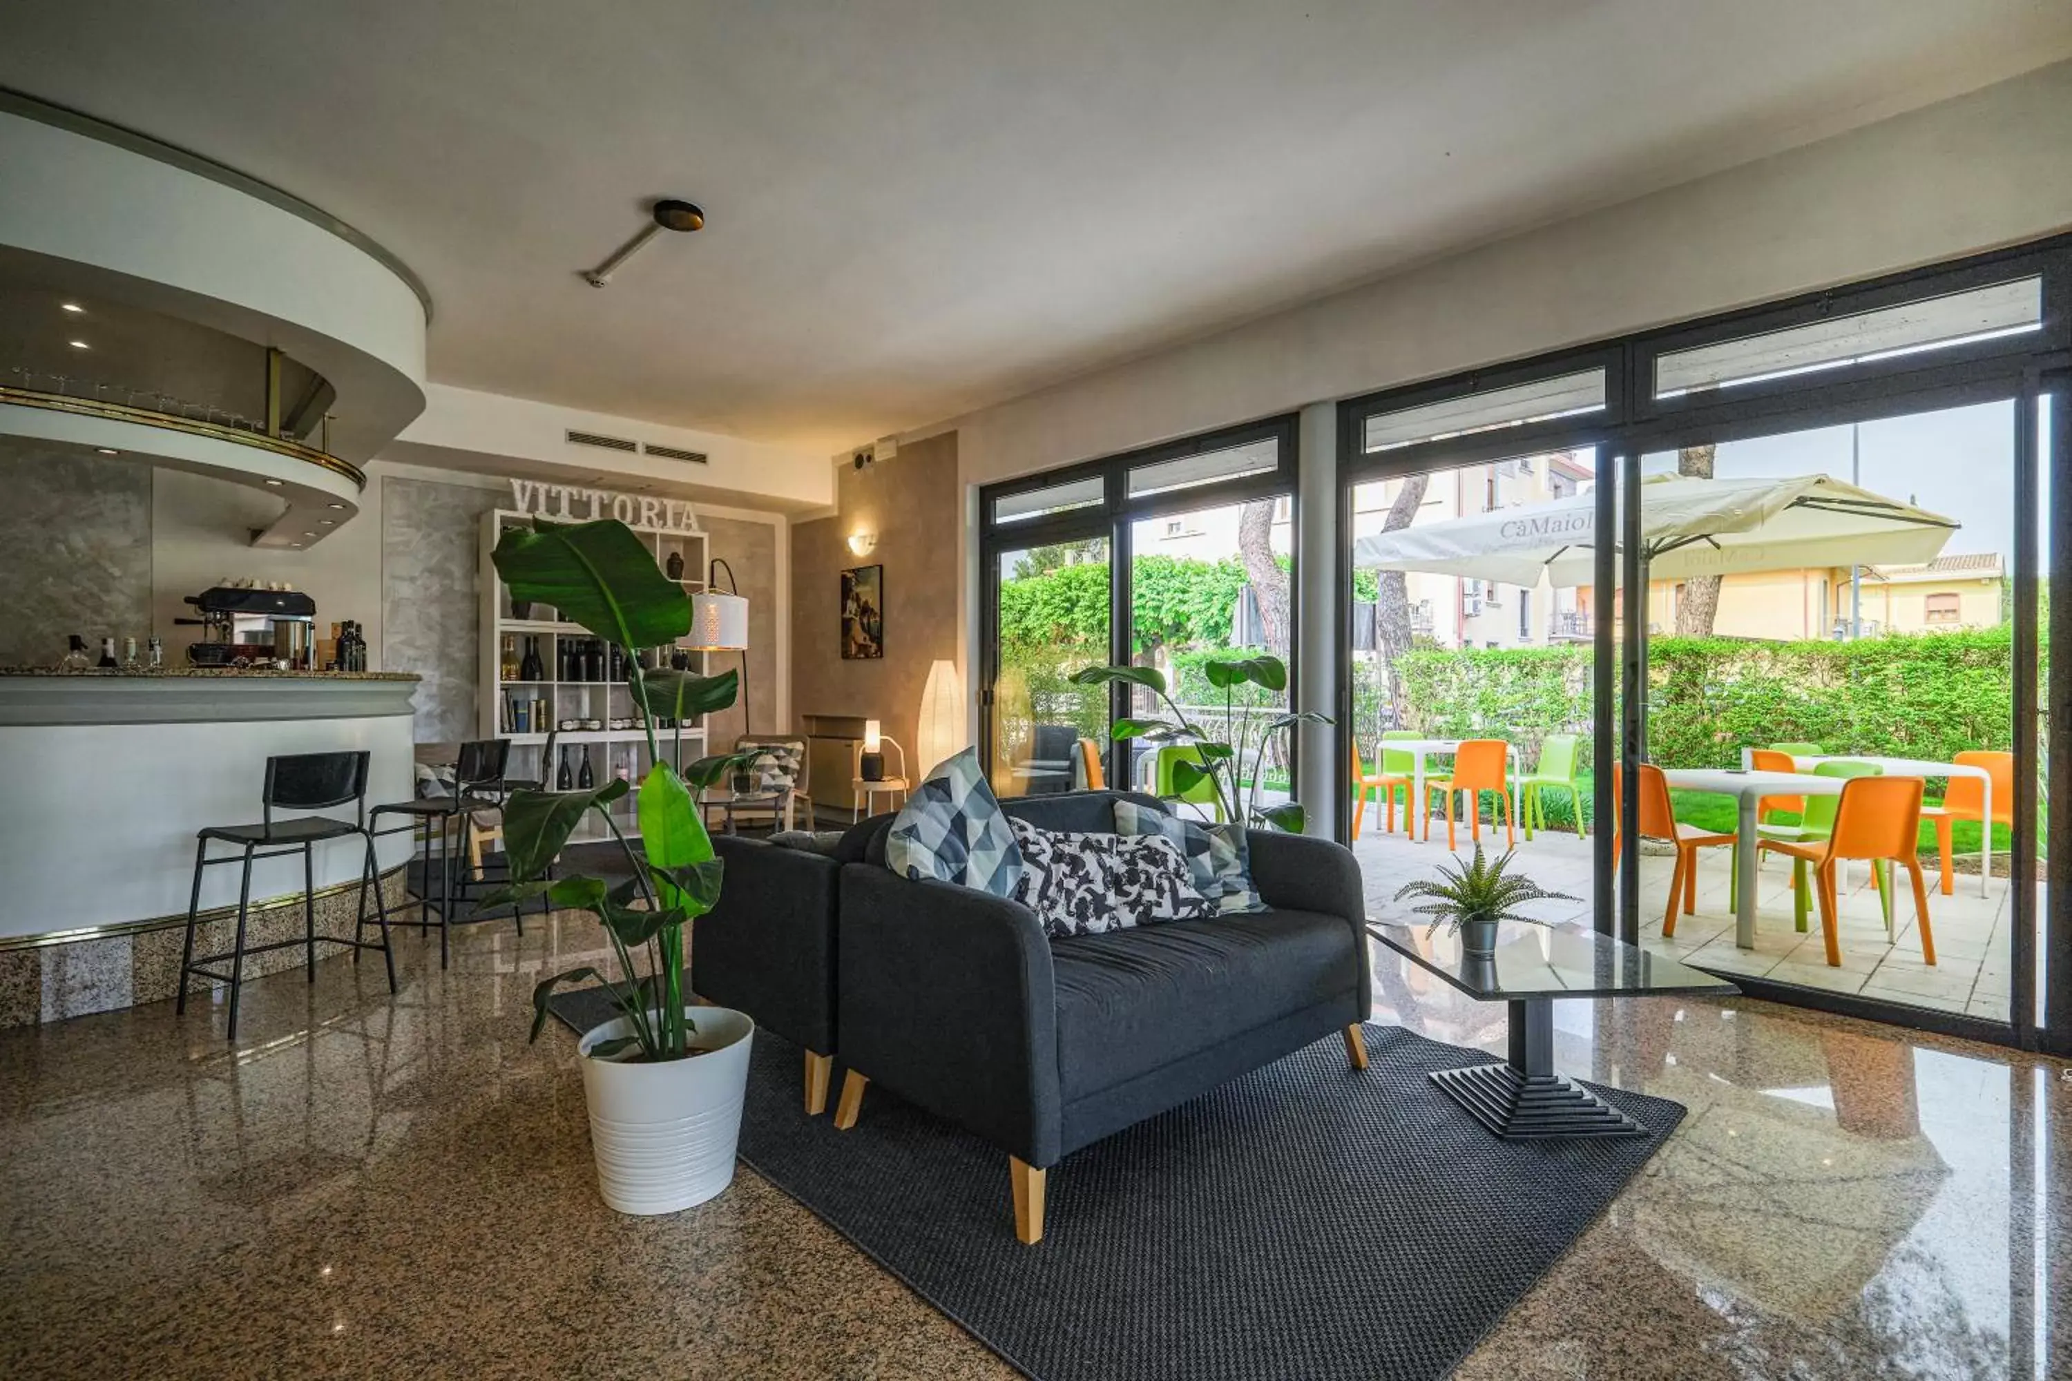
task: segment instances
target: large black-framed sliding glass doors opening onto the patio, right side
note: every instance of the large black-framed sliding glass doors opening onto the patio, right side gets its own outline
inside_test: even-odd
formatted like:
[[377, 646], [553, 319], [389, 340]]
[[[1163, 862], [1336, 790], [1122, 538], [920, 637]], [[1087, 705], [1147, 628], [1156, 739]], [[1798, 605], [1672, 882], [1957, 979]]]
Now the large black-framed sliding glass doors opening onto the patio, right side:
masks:
[[2041, 789], [2072, 708], [2041, 598], [2072, 530], [2066, 304], [2072, 240], [1341, 404], [1370, 911], [1446, 857], [1430, 781], [1500, 741], [1457, 851], [1508, 805], [1569, 923], [1757, 996], [2072, 1050], [2072, 923], [2043, 907], [2072, 770]]

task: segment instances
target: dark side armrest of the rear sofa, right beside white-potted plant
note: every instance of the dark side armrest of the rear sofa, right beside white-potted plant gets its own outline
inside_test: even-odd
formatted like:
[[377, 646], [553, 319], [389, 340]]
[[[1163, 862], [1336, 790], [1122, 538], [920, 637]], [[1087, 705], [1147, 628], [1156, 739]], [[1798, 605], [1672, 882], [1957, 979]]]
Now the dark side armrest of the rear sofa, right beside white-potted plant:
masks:
[[841, 865], [721, 834], [719, 903], [690, 923], [690, 986], [806, 1050], [835, 1050], [835, 897]]

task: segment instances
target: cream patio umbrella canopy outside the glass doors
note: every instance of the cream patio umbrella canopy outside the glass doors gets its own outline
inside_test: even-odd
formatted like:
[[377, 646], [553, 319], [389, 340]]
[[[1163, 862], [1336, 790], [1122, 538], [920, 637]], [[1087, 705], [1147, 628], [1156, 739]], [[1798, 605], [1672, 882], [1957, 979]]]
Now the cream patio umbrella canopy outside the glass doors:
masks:
[[[1825, 474], [1643, 480], [1641, 551], [1649, 580], [1819, 565], [1933, 561], [1958, 524]], [[1378, 532], [1353, 542], [1353, 565], [1502, 580], [1533, 588], [1595, 580], [1595, 495], [1492, 509]]]

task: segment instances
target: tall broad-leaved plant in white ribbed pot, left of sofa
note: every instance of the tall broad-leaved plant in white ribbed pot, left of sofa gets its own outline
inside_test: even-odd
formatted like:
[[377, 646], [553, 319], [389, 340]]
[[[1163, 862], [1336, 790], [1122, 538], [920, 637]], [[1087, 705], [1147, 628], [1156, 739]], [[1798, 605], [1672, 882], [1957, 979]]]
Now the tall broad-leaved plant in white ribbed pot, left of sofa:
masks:
[[[690, 631], [684, 586], [661, 574], [622, 522], [508, 528], [491, 559], [514, 600], [551, 605], [622, 648], [663, 648]], [[692, 791], [727, 774], [736, 756], [678, 768], [682, 723], [733, 704], [738, 677], [649, 671], [638, 656], [624, 660], [653, 764], [636, 797], [640, 849], [611, 814], [630, 791], [626, 781], [588, 791], [518, 791], [503, 807], [510, 882], [479, 909], [547, 897], [603, 925], [617, 973], [584, 965], [543, 979], [533, 990], [533, 1039], [547, 1023], [547, 998], [564, 983], [593, 981], [611, 1002], [617, 1017], [578, 1044], [599, 1188], [622, 1213], [671, 1213], [733, 1180], [754, 1037], [744, 1012], [690, 1006], [684, 986], [684, 928], [713, 909], [721, 882]], [[673, 752], [655, 735], [657, 718], [680, 725]], [[549, 876], [588, 816], [617, 843], [624, 876]]]

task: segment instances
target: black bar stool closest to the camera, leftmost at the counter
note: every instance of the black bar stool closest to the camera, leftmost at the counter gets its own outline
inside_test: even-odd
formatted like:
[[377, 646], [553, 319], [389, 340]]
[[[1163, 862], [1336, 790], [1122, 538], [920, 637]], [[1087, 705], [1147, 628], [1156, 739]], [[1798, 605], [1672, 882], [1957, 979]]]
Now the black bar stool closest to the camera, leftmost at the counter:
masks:
[[[329, 810], [352, 801], [354, 818], [336, 820], [332, 816], [298, 816], [276, 820], [276, 810]], [[180, 944], [180, 1000], [174, 1012], [186, 1012], [186, 975], [230, 983], [230, 1039], [238, 1037], [238, 992], [244, 986], [244, 957], [282, 950], [300, 944], [307, 954], [309, 981], [317, 981], [317, 944], [344, 944], [352, 948], [354, 963], [361, 950], [381, 950], [387, 963], [390, 992], [396, 992], [396, 954], [387, 942], [387, 903], [381, 897], [381, 863], [375, 859], [375, 839], [367, 828], [367, 754], [292, 754], [265, 760], [265, 789], [259, 793], [259, 824], [211, 824], [195, 834], [195, 888], [186, 899], [186, 940]], [[325, 839], [346, 839], [358, 834], [367, 841], [367, 868], [361, 874], [361, 919], [352, 928], [350, 940], [317, 934], [317, 892], [315, 861], [311, 847]], [[209, 841], [222, 839], [242, 847], [242, 855], [209, 857]], [[284, 845], [259, 853], [265, 845]], [[244, 944], [244, 919], [253, 901], [253, 859], [271, 859], [288, 853], [303, 855], [303, 938], [276, 940], [274, 944]], [[195, 959], [195, 923], [201, 911], [201, 870], [211, 863], [234, 863], [242, 857], [244, 878], [238, 884], [238, 936], [228, 954], [203, 954]], [[367, 882], [375, 888], [375, 917], [381, 925], [381, 944], [369, 944], [361, 936], [367, 928]], [[203, 965], [228, 959], [230, 973], [218, 973]]]

